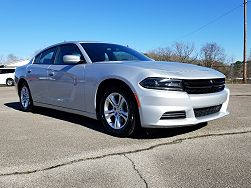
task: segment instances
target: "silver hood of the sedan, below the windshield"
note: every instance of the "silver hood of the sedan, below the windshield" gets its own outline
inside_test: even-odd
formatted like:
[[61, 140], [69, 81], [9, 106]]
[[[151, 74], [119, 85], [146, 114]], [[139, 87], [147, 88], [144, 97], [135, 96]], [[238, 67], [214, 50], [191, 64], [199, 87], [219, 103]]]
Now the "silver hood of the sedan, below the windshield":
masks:
[[203, 78], [224, 78], [225, 76], [211, 68], [198, 65], [179, 63], [179, 62], [164, 62], [164, 61], [138, 61], [138, 62], [122, 62], [126, 66], [135, 68], [143, 68], [151, 73], [158, 75], [168, 75], [173, 78], [186, 79], [203, 79]]

